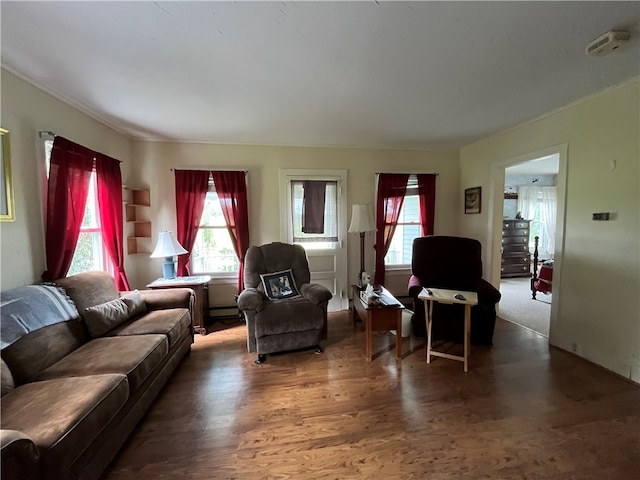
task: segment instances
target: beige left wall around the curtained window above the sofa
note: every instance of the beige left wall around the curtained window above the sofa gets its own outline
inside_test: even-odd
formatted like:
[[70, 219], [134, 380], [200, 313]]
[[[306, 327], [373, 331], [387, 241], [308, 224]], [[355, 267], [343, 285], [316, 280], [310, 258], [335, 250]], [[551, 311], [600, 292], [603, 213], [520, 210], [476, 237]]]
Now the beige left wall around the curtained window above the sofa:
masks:
[[42, 179], [38, 132], [52, 131], [122, 160], [130, 169], [131, 141], [77, 109], [1, 70], [0, 123], [10, 132], [15, 221], [0, 223], [2, 289], [40, 279], [45, 269]]

